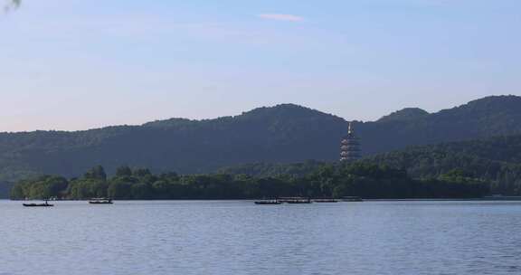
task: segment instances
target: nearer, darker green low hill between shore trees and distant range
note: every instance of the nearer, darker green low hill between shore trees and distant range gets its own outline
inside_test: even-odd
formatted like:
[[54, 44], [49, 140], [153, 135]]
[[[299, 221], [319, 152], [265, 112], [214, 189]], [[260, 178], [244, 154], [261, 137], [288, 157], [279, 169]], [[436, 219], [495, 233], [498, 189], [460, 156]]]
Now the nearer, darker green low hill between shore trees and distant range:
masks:
[[[360, 162], [406, 170], [415, 179], [443, 179], [447, 175], [459, 180], [473, 179], [488, 183], [495, 194], [521, 195], [521, 135], [408, 147], [368, 156]], [[256, 163], [227, 167], [220, 172], [299, 177], [327, 165], [317, 161], [289, 165]]]

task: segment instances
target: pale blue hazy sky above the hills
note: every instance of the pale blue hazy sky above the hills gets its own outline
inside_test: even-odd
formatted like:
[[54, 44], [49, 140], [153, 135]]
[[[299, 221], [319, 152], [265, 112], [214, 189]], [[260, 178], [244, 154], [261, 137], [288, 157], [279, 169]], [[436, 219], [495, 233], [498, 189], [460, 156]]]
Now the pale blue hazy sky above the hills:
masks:
[[521, 94], [520, 27], [519, 0], [24, 0], [0, 14], [0, 131], [437, 111]]

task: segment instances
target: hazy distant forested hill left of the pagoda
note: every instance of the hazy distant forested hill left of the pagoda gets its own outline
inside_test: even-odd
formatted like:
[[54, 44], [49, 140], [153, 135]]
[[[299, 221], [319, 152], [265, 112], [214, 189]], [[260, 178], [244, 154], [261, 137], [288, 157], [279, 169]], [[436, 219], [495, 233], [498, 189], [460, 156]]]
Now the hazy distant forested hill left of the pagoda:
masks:
[[335, 159], [346, 121], [292, 104], [235, 117], [169, 119], [142, 126], [79, 132], [0, 134], [0, 180], [24, 175], [81, 175], [102, 165], [146, 166], [156, 172], [206, 173], [257, 161]]

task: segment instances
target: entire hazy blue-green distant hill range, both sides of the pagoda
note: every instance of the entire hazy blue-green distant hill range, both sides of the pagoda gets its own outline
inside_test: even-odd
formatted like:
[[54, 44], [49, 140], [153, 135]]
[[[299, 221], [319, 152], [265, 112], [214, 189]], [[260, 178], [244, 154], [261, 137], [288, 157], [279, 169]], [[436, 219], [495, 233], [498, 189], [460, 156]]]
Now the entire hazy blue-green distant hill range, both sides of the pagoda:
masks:
[[[365, 154], [518, 134], [521, 98], [488, 97], [432, 114], [405, 109], [374, 122], [356, 123], [356, 130]], [[104, 166], [109, 174], [121, 165], [191, 174], [244, 163], [332, 161], [345, 133], [345, 119], [292, 104], [220, 119], [168, 119], [78, 132], [2, 133], [0, 181], [34, 174], [76, 176], [94, 165]]]

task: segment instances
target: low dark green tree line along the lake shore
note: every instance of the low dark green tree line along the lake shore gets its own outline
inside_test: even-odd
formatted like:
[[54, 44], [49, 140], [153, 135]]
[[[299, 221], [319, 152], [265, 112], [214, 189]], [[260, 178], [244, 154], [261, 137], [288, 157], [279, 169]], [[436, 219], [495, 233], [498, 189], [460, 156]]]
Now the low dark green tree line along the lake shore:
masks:
[[478, 198], [490, 194], [490, 185], [458, 170], [436, 178], [413, 179], [403, 169], [368, 164], [319, 164], [305, 175], [154, 174], [147, 168], [118, 167], [108, 176], [102, 166], [84, 175], [66, 178], [40, 175], [17, 182], [13, 200], [259, 199], [282, 196], [367, 199]]

